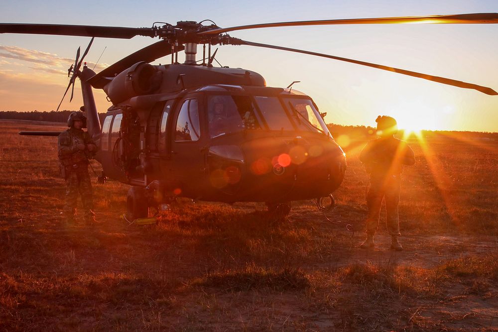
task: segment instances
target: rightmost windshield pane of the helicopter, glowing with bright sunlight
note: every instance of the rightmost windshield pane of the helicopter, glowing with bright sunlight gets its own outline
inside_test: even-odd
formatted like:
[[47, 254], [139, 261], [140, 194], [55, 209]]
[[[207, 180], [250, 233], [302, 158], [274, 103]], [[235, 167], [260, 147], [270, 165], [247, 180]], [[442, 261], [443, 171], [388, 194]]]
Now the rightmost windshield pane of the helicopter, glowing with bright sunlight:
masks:
[[284, 98], [284, 104], [293, 114], [298, 129], [328, 133], [322, 116], [309, 99]]

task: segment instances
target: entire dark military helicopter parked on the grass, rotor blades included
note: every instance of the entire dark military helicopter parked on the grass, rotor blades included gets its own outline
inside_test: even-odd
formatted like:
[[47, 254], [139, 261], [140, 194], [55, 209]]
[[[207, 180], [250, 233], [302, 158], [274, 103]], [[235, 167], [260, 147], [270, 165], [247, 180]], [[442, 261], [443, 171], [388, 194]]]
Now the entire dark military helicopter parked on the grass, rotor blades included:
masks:
[[[126, 219], [145, 218], [149, 207], [177, 197], [212, 202], [264, 202], [269, 212], [287, 215], [290, 202], [316, 199], [334, 207], [332, 194], [346, 172], [346, 154], [334, 140], [313, 99], [286, 88], [267, 87], [262, 75], [246, 69], [214, 67], [213, 45], [247, 45], [355, 63], [459, 88], [498, 95], [488, 87], [329, 54], [262, 44], [228, 32], [284, 26], [335, 24], [486, 24], [498, 13], [308, 20], [221, 28], [209, 21], [154, 23], [147, 28], [0, 23], [0, 33], [92, 37], [68, 69], [73, 98], [80, 79], [88, 132], [99, 147], [95, 159], [103, 176], [130, 185]], [[134, 36], [161, 40], [99, 73], [84, 58], [94, 38]], [[197, 60], [202, 45], [202, 59]], [[185, 62], [178, 53], [185, 52]], [[170, 56], [170, 64], [151, 65]], [[202, 62], [200, 62], [202, 61]], [[83, 65], [83, 68], [82, 68]], [[82, 68], [82, 69], [81, 69]], [[80, 70], [81, 69], [81, 70]], [[112, 102], [101, 123], [92, 89]], [[61, 101], [62, 103], [62, 101]], [[59, 104], [60, 107], [60, 104]], [[57, 136], [59, 132], [20, 132]], [[325, 200], [328, 199], [328, 200]], [[324, 202], [328, 202], [325, 204]]]

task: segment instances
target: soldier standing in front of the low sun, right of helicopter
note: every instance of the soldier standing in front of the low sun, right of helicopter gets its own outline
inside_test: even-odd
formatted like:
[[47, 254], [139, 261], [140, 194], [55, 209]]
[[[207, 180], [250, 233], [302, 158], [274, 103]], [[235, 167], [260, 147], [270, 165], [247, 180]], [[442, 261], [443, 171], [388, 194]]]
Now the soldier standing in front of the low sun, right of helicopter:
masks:
[[398, 242], [399, 233], [399, 189], [403, 165], [415, 164], [415, 154], [405, 141], [397, 139], [396, 120], [390, 116], [378, 116], [378, 139], [370, 141], [363, 148], [360, 160], [370, 174], [370, 187], [367, 193], [367, 239], [362, 248], [373, 248], [373, 235], [377, 230], [382, 199], [385, 198], [385, 223], [391, 235], [391, 249], [403, 250]]

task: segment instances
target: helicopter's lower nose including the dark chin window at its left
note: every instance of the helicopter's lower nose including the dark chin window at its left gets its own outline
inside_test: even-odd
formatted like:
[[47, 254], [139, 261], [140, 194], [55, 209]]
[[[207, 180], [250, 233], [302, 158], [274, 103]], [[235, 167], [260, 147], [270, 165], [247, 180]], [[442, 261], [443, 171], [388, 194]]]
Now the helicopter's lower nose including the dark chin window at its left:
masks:
[[207, 164], [217, 200], [292, 201], [334, 192], [346, 157], [333, 140], [264, 137], [242, 146], [211, 146]]

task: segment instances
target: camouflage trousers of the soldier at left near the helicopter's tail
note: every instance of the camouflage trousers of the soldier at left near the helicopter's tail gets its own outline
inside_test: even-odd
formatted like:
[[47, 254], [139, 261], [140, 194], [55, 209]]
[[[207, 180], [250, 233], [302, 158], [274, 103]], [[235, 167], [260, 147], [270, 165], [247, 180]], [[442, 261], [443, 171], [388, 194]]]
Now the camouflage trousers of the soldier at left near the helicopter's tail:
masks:
[[78, 195], [81, 196], [83, 210], [85, 211], [85, 220], [91, 220], [95, 216], [93, 206], [93, 191], [88, 173], [88, 165], [78, 164], [77, 167], [65, 166], [66, 180], [66, 205], [64, 215], [68, 220], [74, 220], [76, 216], [76, 207]]

